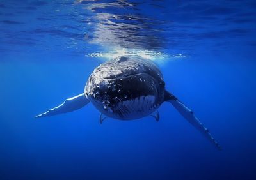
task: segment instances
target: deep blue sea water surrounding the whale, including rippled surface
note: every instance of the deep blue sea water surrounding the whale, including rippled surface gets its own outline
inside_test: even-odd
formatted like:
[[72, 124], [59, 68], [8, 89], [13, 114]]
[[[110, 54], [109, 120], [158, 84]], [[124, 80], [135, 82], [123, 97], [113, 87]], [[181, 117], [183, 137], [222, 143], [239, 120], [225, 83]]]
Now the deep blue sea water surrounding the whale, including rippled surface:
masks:
[[[256, 179], [255, 47], [253, 0], [0, 1], [0, 179]], [[122, 54], [152, 59], [222, 150], [169, 103], [159, 122], [33, 118]]]

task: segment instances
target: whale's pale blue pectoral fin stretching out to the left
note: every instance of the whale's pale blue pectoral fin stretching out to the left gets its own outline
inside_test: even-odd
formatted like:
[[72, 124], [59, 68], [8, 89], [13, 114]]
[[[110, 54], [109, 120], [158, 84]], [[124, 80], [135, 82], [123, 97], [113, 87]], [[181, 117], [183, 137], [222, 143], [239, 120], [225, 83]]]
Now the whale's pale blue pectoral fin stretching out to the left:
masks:
[[74, 96], [73, 98], [68, 98], [61, 105], [58, 105], [57, 107], [49, 109], [47, 110], [47, 112], [44, 112], [42, 114], [35, 116], [35, 118], [40, 118], [45, 116], [54, 116], [54, 115], [62, 114], [65, 112], [71, 112], [73, 110], [77, 110], [77, 109], [80, 109], [81, 107], [84, 107], [89, 102], [90, 101], [86, 98], [84, 93], [79, 94], [77, 96]]

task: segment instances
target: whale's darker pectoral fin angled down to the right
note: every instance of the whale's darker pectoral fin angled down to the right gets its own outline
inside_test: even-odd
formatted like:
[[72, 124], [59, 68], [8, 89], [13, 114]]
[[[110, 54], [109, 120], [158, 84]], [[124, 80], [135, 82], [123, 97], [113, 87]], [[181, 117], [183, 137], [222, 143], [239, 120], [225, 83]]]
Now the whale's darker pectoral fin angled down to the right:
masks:
[[205, 137], [207, 137], [207, 139], [209, 139], [211, 142], [213, 142], [214, 145], [216, 147], [218, 147], [218, 149], [221, 149], [220, 144], [218, 144], [218, 142], [216, 142], [216, 140], [212, 137], [211, 133], [209, 133], [209, 130], [207, 130], [207, 128], [205, 128], [205, 126], [202, 123], [200, 123], [200, 121], [197, 119], [197, 117], [195, 117], [195, 115], [191, 109], [186, 107], [186, 105], [184, 105], [175, 96], [173, 96], [173, 94], [168, 93], [167, 91], [165, 94], [165, 101], [172, 103], [173, 107], [175, 107], [175, 109], [177, 109], [179, 111], [179, 113], [185, 119], [187, 119], [187, 121], [189, 121], [189, 123], [191, 123], [193, 126], [195, 126], [195, 128], [198, 129]]

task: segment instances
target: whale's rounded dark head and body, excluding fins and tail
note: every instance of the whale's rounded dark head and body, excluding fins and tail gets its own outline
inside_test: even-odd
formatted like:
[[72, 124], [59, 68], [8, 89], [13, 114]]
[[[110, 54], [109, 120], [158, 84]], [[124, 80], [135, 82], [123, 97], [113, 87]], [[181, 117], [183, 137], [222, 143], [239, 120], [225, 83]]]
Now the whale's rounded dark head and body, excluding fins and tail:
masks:
[[95, 68], [84, 92], [107, 116], [137, 119], [148, 116], [163, 102], [163, 75], [150, 60], [120, 56]]

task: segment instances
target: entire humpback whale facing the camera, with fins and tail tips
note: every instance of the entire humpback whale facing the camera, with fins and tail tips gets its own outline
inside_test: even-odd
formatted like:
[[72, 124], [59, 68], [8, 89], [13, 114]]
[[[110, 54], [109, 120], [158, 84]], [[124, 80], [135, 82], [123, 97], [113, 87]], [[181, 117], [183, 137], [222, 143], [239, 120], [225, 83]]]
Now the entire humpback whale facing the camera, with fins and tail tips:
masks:
[[189, 123], [220, 148], [193, 112], [166, 91], [163, 75], [157, 66], [138, 56], [120, 56], [101, 64], [90, 75], [84, 93], [69, 98], [58, 107], [36, 117], [71, 112], [92, 102], [104, 114], [104, 116], [100, 115], [100, 123], [106, 117], [131, 120], [152, 113], [158, 121], [157, 109], [164, 101], [172, 103]]

